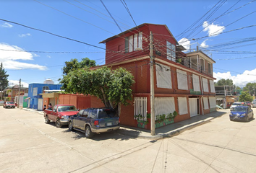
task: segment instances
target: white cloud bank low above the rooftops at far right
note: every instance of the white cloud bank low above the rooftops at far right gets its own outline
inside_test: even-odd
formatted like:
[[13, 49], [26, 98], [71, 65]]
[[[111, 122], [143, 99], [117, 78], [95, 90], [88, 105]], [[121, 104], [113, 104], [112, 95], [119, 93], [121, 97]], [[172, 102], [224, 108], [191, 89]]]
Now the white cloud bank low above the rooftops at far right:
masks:
[[244, 87], [249, 82], [256, 83], [255, 74], [256, 68], [252, 71], [244, 71], [243, 74], [237, 74], [236, 76], [232, 76], [229, 71], [226, 73], [213, 72], [213, 77], [216, 78], [216, 81], [220, 79], [232, 79], [233, 84], [239, 87]]

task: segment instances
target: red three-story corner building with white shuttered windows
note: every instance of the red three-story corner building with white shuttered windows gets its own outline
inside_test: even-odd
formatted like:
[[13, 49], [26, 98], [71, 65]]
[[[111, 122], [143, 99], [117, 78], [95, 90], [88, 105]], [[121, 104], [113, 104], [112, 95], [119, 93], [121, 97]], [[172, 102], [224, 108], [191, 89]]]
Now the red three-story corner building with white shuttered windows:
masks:
[[[124, 67], [135, 76], [134, 99], [131, 105], [121, 106], [121, 124], [150, 129], [150, 121], [146, 123], [150, 113], [150, 32], [153, 35], [155, 120], [159, 123], [156, 128], [216, 111], [215, 61], [200, 50], [183, 53], [184, 47], [166, 25], [145, 23], [101, 42], [106, 43], [104, 66]], [[168, 114], [174, 111], [178, 115], [170, 122]], [[161, 115], [166, 115], [165, 121], [161, 122]]]

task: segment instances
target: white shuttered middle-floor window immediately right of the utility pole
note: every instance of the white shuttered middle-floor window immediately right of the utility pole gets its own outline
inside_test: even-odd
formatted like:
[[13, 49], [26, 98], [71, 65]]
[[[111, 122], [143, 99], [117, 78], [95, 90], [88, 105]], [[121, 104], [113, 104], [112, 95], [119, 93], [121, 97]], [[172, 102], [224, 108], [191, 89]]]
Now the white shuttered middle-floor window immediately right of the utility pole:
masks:
[[171, 69], [168, 66], [155, 66], [156, 85], [158, 88], [171, 89]]

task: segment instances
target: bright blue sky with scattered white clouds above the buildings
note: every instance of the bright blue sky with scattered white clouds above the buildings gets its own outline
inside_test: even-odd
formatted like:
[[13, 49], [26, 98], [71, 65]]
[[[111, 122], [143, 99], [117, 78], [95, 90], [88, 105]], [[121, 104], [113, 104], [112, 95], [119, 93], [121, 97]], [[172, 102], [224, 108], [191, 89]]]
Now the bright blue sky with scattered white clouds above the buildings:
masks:
[[166, 25], [188, 52], [199, 46], [216, 61], [216, 81], [256, 82], [255, 0], [1, 0], [0, 9], [9, 85], [58, 84], [72, 58], [103, 65], [100, 42], [143, 23]]

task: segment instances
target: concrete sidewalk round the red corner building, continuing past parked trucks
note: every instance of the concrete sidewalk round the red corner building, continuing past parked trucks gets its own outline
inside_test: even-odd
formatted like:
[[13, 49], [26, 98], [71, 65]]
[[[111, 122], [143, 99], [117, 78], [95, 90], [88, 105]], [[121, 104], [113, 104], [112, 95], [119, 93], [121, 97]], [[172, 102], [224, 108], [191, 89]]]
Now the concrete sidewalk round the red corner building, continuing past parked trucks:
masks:
[[[43, 115], [43, 111], [41, 110], [38, 111], [30, 108], [22, 108], [22, 110], [33, 111], [37, 112], [40, 115]], [[160, 138], [176, 136], [178, 133], [181, 133], [184, 130], [194, 128], [197, 125], [202, 125], [203, 123], [207, 123], [210, 120], [213, 120], [216, 117], [221, 117], [222, 115], [225, 115], [229, 112], [229, 109], [217, 110], [216, 112], [211, 112], [207, 115], [197, 115], [195, 117], [191, 117], [189, 120], [183, 120], [178, 123], [166, 125], [162, 128], [155, 129], [155, 136], [151, 136], [150, 130], [132, 128], [124, 125], [121, 125], [121, 128], [119, 130], [116, 130], [116, 133], [120, 133], [125, 136], [131, 136], [133, 138], [150, 138], [153, 140], [157, 140]]]

